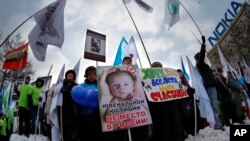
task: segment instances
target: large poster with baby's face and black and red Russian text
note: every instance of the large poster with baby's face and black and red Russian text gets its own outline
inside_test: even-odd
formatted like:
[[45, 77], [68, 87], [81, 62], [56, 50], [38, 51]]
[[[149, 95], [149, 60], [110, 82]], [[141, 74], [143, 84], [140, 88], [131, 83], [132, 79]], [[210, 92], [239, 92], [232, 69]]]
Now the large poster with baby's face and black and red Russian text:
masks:
[[135, 66], [97, 67], [97, 78], [103, 132], [152, 123]]

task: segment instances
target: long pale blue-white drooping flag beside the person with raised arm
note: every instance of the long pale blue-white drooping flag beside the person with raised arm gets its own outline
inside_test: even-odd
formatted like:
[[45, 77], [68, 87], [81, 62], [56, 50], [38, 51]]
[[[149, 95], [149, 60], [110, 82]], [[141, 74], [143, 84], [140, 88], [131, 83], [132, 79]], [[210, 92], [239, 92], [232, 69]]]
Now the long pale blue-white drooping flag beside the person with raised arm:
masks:
[[210, 126], [214, 128], [215, 126], [214, 113], [210, 104], [210, 100], [207, 95], [207, 91], [202, 83], [202, 79], [199, 72], [194, 68], [193, 64], [191, 63], [191, 61], [187, 56], [186, 58], [192, 80], [192, 86], [195, 88], [195, 94], [199, 98], [200, 116], [206, 118]]

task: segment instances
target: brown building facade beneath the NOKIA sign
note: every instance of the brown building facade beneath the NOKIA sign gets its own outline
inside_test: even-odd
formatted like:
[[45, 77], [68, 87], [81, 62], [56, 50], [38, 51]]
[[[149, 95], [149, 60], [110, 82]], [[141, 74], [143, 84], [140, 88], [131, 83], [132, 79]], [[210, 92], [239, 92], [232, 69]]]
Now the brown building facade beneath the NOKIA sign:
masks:
[[244, 58], [250, 65], [250, 5], [244, 3], [218, 42], [208, 51], [212, 68], [221, 67], [217, 46], [227, 61], [235, 66]]

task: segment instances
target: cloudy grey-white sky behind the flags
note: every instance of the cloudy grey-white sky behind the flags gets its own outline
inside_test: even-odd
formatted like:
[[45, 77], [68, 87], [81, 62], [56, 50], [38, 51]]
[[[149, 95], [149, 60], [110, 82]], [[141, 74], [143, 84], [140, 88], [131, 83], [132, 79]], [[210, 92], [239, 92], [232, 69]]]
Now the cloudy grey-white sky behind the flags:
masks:
[[[0, 30], [4, 38], [21, 22], [39, 9], [55, 0], [0, 0]], [[191, 32], [199, 38], [199, 31], [194, 23], [180, 7], [180, 21], [168, 30], [164, 25], [165, 0], [144, 0], [153, 7], [152, 13], [143, 11], [132, 0], [127, 6], [140, 31], [142, 40], [151, 62], [160, 61], [164, 67], [180, 68], [180, 56], [187, 55], [194, 63], [193, 56], [200, 50], [200, 45]], [[232, 0], [180, 0], [191, 13], [203, 35], [212, 36], [216, 25], [224, 18], [227, 9], [232, 10]], [[234, 0], [243, 3], [244, 0]], [[113, 65], [116, 51], [122, 37], [127, 40], [134, 36], [139, 56], [144, 68], [149, 67], [145, 51], [140, 42], [134, 25], [123, 5], [122, 0], [67, 0], [64, 10], [65, 40], [62, 49], [49, 46], [45, 62], [37, 61], [31, 49], [29, 59], [34, 64], [38, 76], [47, 75], [53, 64], [51, 74], [55, 82], [63, 64], [66, 70], [72, 69], [81, 57], [79, 83], [84, 81], [84, 71], [87, 66], [96, 62], [83, 59], [87, 29], [106, 35], [106, 63], [98, 62], [100, 66]], [[28, 41], [28, 34], [35, 25], [30, 19], [16, 33], [21, 32], [23, 39]], [[2, 43], [3, 40], [0, 40]], [[211, 48], [207, 41], [207, 49]], [[186, 64], [186, 60], [184, 60]], [[186, 65], [187, 68], [187, 65]]]

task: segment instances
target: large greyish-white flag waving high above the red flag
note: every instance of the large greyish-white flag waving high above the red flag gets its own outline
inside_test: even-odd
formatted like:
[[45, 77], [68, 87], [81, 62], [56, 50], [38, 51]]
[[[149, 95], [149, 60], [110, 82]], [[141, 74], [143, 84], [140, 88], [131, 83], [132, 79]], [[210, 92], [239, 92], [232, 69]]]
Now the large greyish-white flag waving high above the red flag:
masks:
[[48, 45], [62, 47], [64, 41], [64, 7], [66, 0], [57, 0], [34, 15], [36, 25], [28, 38], [37, 60], [44, 61]]

